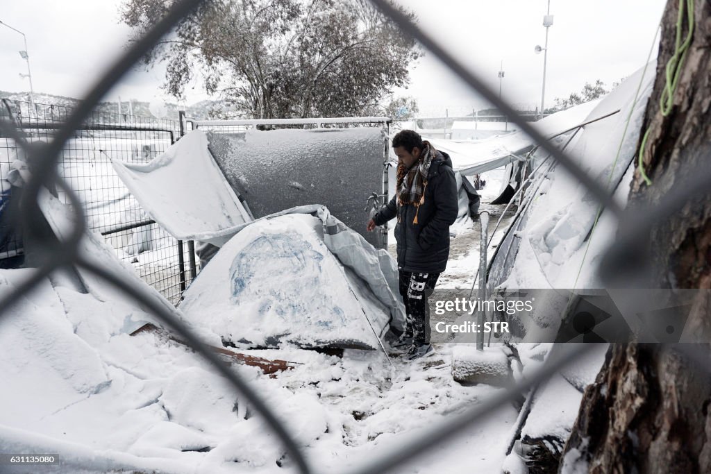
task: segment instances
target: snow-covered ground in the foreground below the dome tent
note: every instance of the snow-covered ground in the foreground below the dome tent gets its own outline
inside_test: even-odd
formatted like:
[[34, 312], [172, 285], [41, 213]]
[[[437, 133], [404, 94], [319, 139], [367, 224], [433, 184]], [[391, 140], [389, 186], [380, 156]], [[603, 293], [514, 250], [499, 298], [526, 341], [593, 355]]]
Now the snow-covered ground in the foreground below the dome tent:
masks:
[[[28, 271], [1, 271], [2, 292]], [[283, 472], [279, 464], [289, 460], [260, 416], [188, 348], [153, 333], [128, 335], [135, 318], [149, 316], [53, 279], [0, 319], [0, 405], [11, 407], [0, 412], [0, 451], [60, 453], [58, 471], [67, 473]], [[234, 370], [293, 430], [311, 463], [333, 472], [501, 390], [454, 382], [449, 350], [391, 366], [382, 352], [336, 357], [286, 347], [250, 355], [288, 360], [293, 370], [274, 378], [256, 367]], [[474, 460], [475, 472], [495, 470], [515, 416], [506, 407], [416, 465], [459, 473]]]

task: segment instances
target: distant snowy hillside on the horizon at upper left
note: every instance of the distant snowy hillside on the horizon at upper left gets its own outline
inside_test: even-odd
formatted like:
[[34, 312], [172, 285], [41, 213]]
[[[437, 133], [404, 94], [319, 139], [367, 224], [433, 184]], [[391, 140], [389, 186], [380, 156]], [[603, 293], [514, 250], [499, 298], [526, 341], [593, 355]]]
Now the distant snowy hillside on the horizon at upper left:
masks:
[[[79, 102], [79, 99], [75, 99], [74, 97], [43, 94], [42, 92], [35, 92], [33, 96], [34, 102], [38, 104], [75, 107]], [[0, 90], [0, 99], [30, 102], [28, 92], [6, 92], [4, 90]], [[129, 112], [129, 107], [131, 107], [134, 115], [139, 117], [153, 117], [153, 114], [151, 114], [149, 109], [149, 102], [132, 100], [130, 104], [129, 101], [122, 102], [121, 106], [121, 111], [124, 114], [127, 114]], [[99, 102], [95, 110], [97, 112], [115, 114], [119, 112], [119, 104], [118, 102]], [[236, 115], [233, 110], [228, 109], [228, 107], [223, 107], [223, 102], [217, 100], [202, 100], [196, 104], [189, 105], [186, 107], [186, 114], [188, 117], [193, 117], [199, 120], [223, 119], [225, 117], [234, 117]], [[172, 120], [178, 119], [178, 104], [166, 104], [165, 118]]]

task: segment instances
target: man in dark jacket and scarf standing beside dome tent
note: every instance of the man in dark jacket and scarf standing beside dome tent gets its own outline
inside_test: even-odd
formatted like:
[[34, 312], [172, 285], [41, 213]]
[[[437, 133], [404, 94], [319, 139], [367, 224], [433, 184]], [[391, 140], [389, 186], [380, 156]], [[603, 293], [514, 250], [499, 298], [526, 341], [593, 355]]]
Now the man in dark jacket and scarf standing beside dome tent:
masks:
[[397, 268], [407, 325], [395, 348], [410, 345], [410, 360], [433, 352], [429, 344], [429, 307], [439, 274], [449, 257], [449, 226], [459, 211], [456, 178], [447, 153], [437, 151], [412, 130], [392, 139], [397, 155], [395, 196], [368, 221], [368, 231], [397, 216]]

